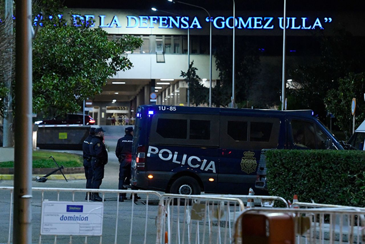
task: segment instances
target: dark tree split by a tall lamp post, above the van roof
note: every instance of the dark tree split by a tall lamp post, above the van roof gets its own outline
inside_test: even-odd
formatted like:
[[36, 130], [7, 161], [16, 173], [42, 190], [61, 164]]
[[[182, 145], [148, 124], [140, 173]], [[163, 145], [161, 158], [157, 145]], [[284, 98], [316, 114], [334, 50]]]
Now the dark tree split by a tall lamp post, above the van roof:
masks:
[[[235, 102], [247, 101], [255, 77], [260, 71], [258, 48], [253, 42], [236, 40], [240, 43], [235, 55]], [[227, 106], [232, 97], [232, 45], [229, 38], [222, 38], [215, 52], [216, 69], [220, 80], [212, 89], [212, 103], [217, 107]]]

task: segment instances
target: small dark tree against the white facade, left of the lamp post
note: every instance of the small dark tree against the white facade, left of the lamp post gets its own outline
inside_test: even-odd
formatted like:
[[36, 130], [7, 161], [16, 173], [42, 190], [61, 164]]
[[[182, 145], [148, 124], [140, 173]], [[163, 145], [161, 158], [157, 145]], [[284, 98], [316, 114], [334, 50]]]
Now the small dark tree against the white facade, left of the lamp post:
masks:
[[200, 83], [200, 78], [196, 74], [197, 68], [193, 67], [194, 61], [189, 65], [187, 72], [181, 71], [181, 77], [189, 84], [190, 103], [195, 106], [208, 101], [208, 88]]

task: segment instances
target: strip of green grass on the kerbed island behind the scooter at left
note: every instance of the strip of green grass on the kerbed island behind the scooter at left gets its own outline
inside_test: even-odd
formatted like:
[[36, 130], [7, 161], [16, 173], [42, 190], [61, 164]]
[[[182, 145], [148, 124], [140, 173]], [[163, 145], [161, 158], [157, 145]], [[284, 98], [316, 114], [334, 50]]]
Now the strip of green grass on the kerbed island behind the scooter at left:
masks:
[[[53, 156], [59, 166], [65, 168], [82, 167], [82, 156], [72, 153], [58, 153], [53, 151], [33, 151], [33, 168], [57, 168], [52, 158]], [[0, 168], [14, 168], [14, 161], [0, 162]]]

